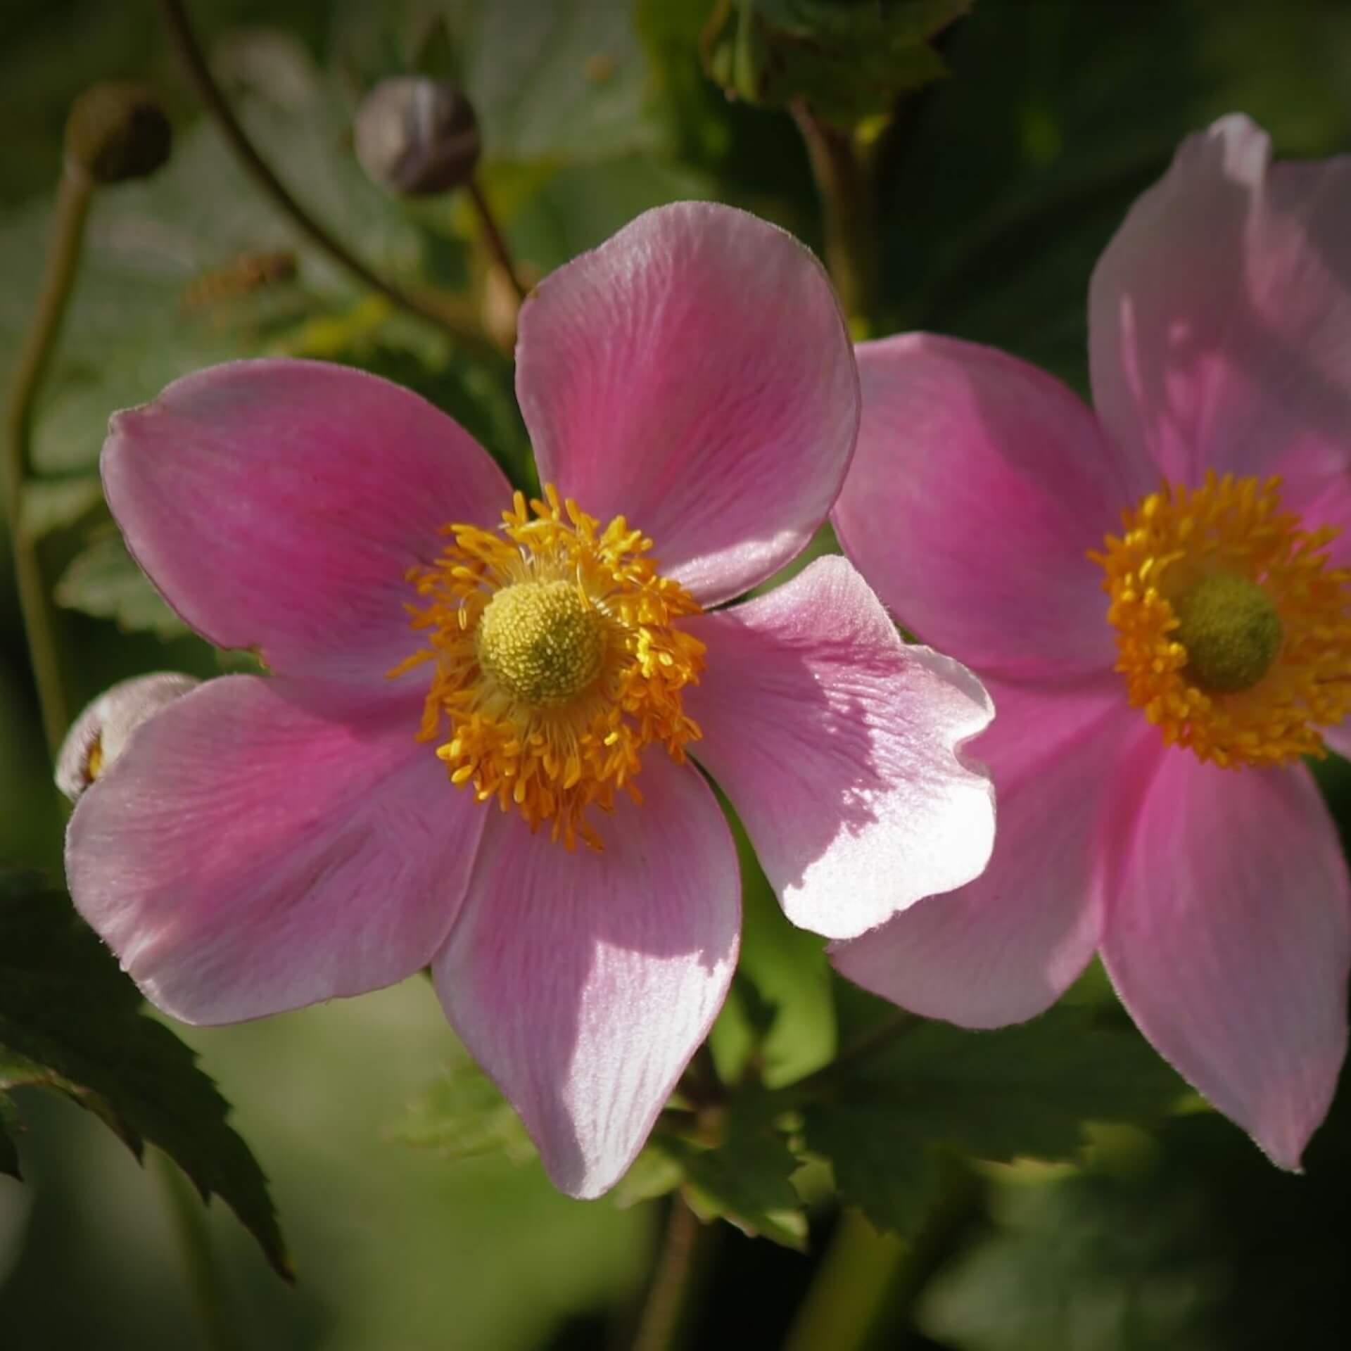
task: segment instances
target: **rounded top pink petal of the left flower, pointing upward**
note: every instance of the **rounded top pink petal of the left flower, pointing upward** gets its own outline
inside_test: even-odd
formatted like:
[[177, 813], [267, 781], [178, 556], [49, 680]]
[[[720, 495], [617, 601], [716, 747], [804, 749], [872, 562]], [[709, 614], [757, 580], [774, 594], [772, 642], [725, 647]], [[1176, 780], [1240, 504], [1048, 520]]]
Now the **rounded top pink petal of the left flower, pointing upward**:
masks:
[[627, 516], [701, 601], [739, 594], [825, 519], [858, 427], [835, 295], [792, 235], [730, 207], [639, 216], [520, 315], [540, 478]]

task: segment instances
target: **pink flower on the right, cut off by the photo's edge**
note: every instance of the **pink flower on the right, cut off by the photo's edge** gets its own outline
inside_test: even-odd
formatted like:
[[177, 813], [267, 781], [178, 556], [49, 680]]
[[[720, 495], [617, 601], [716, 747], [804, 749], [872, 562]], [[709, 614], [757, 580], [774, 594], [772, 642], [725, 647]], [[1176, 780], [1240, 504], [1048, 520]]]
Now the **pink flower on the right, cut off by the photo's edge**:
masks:
[[974, 753], [1000, 835], [979, 881], [835, 961], [994, 1027], [1098, 950], [1158, 1050], [1297, 1167], [1351, 962], [1346, 863], [1300, 763], [1351, 744], [1351, 159], [1269, 161], [1227, 118], [1135, 204], [1090, 289], [1097, 416], [970, 343], [858, 350], [836, 526], [989, 682]]

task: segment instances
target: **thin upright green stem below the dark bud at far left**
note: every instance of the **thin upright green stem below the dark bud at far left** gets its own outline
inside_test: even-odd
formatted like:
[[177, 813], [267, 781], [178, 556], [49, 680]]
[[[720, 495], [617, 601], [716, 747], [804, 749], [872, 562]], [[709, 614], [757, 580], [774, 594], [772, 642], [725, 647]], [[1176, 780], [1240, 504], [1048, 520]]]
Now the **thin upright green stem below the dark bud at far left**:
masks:
[[47, 736], [47, 748], [53, 755], [61, 748], [66, 735], [70, 711], [61, 678], [55, 623], [38, 559], [38, 542], [24, 520], [23, 497], [31, 471], [32, 411], [61, 335], [76, 273], [80, 270], [80, 253], [84, 247], [85, 222], [89, 218], [93, 190], [93, 181], [85, 170], [68, 159], [57, 189], [51, 245], [38, 295], [38, 308], [23, 351], [19, 354], [5, 415], [4, 486], [15, 582], [28, 639], [32, 678], [42, 705], [42, 727]]

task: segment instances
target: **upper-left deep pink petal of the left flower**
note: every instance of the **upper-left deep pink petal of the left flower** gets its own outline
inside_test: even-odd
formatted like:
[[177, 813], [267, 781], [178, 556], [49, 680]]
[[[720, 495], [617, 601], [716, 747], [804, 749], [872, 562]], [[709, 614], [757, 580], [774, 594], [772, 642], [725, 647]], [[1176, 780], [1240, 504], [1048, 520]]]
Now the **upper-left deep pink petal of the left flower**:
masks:
[[165, 598], [220, 647], [262, 647], [358, 703], [419, 646], [408, 567], [447, 521], [496, 524], [511, 488], [458, 424], [358, 370], [239, 361], [118, 413], [108, 503]]

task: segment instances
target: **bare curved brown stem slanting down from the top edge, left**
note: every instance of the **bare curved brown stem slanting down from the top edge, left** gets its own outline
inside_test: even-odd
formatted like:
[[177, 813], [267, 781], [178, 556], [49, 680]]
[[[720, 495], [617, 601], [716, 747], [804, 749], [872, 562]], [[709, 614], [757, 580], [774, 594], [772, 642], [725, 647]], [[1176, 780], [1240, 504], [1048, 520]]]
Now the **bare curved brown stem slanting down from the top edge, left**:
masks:
[[454, 312], [443, 309], [439, 305], [434, 305], [417, 296], [409, 296], [407, 292], [403, 292], [397, 286], [385, 281], [384, 277], [372, 272], [366, 263], [353, 254], [346, 245], [335, 239], [324, 228], [324, 226], [320, 224], [320, 222], [316, 220], [292, 196], [290, 189], [277, 177], [272, 166], [266, 159], [263, 159], [254, 143], [249, 139], [249, 134], [235, 116], [234, 108], [230, 107], [230, 101], [226, 99], [224, 92], [220, 85], [216, 84], [216, 77], [211, 73], [211, 66], [207, 63], [205, 53], [201, 50], [201, 43], [197, 41], [196, 32], [193, 32], [192, 23], [188, 19], [188, 11], [184, 7], [182, 0], [161, 0], [161, 9], [163, 11], [165, 22], [169, 26], [169, 32], [173, 36], [174, 45], [188, 66], [188, 73], [192, 77], [193, 85], [196, 85], [197, 95], [207, 105], [207, 111], [216, 119], [218, 126], [224, 134], [226, 141], [230, 142], [230, 146], [235, 151], [239, 162], [253, 176], [258, 186], [262, 188], [262, 190], [267, 193], [267, 196], [272, 197], [272, 200], [281, 208], [281, 211], [284, 211], [315, 245], [323, 249], [330, 258], [346, 267], [347, 272], [350, 272], [353, 277], [355, 277], [367, 289], [378, 292], [400, 309], [405, 309], [411, 315], [417, 315], [419, 319], [426, 319], [428, 323], [436, 324], [438, 328], [450, 334], [459, 343], [471, 346], [476, 350], [492, 350], [482, 334], [478, 332], [477, 328], [466, 324]]

